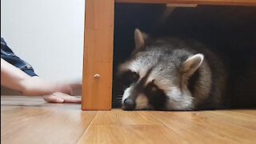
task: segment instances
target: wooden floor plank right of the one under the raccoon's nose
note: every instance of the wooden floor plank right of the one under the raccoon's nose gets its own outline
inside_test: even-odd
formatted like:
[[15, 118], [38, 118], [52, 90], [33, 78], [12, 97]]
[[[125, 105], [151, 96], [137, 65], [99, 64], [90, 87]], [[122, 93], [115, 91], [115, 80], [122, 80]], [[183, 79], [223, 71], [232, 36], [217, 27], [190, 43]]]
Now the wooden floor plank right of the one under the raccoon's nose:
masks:
[[[223, 120], [208, 117], [211, 111], [198, 112], [149, 112], [165, 126], [182, 135], [188, 142], [195, 143], [253, 143], [256, 142], [256, 130], [249, 130], [230, 122], [237, 118]], [[225, 115], [225, 112], [218, 111]], [[214, 116], [213, 116], [214, 117]], [[254, 123], [256, 124], [256, 119]], [[238, 123], [237, 123], [238, 124]]]

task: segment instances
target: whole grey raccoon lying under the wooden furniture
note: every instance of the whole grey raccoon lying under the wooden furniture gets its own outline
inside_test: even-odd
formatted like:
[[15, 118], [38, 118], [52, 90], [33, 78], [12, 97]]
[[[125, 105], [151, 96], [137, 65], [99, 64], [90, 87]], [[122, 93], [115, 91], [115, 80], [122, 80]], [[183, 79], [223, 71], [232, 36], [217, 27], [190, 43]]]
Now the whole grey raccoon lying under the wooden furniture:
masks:
[[136, 29], [135, 49], [118, 66], [124, 110], [210, 110], [224, 106], [226, 67], [194, 41], [151, 38]]

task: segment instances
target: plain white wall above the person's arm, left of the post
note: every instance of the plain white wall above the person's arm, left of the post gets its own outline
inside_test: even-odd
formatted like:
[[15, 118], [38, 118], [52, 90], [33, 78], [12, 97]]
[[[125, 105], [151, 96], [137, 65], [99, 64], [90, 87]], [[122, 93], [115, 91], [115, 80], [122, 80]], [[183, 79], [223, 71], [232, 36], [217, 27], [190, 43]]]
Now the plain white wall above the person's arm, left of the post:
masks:
[[85, 0], [1, 0], [1, 37], [50, 81], [82, 78]]

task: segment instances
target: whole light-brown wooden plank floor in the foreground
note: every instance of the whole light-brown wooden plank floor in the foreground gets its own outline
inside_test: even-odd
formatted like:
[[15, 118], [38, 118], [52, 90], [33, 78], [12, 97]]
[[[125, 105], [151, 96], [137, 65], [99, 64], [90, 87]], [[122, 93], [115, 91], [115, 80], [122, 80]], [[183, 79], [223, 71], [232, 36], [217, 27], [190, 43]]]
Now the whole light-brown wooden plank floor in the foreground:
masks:
[[1, 97], [1, 142], [256, 143], [256, 110], [82, 111], [39, 97]]

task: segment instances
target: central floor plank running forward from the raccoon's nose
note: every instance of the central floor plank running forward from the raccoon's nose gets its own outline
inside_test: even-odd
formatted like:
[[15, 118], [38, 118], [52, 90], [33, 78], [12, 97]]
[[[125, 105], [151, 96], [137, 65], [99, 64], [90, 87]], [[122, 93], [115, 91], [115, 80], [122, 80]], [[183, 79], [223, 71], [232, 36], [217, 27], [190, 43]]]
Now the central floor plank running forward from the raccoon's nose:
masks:
[[186, 143], [146, 111], [99, 111], [78, 143]]

